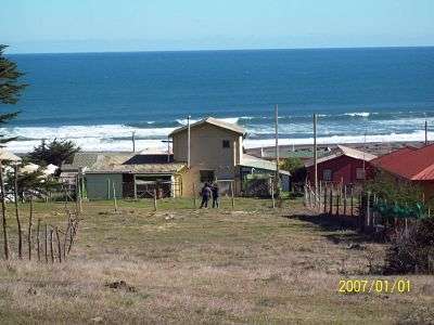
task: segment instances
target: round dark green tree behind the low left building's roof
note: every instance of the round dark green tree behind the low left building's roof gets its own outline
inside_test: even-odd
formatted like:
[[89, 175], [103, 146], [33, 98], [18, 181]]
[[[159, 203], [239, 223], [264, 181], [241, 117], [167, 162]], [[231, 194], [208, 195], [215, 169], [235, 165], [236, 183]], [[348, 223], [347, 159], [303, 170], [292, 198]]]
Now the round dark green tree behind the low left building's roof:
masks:
[[54, 139], [49, 143], [42, 141], [28, 154], [28, 158], [30, 161], [42, 166], [49, 164], [61, 166], [63, 162], [71, 162], [74, 155], [79, 151], [80, 147], [73, 141]]

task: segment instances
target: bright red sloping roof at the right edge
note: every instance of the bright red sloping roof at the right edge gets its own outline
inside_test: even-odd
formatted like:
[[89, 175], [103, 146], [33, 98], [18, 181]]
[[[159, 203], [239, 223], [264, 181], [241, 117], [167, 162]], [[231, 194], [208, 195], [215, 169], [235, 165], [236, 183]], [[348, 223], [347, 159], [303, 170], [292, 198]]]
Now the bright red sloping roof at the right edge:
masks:
[[434, 144], [421, 148], [404, 147], [381, 156], [372, 164], [411, 181], [434, 180]]

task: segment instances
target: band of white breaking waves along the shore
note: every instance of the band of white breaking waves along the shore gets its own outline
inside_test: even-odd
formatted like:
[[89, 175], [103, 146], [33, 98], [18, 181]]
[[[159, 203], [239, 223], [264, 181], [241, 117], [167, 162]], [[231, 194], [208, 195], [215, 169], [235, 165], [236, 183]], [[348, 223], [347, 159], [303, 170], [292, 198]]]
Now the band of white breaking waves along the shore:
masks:
[[[341, 113], [336, 115], [324, 114], [318, 119], [318, 136], [323, 141], [354, 142], [360, 141], [367, 133], [372, 141], [391, 139], [396, 141], [423, 140], [425, 120], [429, 126], [434, 126], [434, 113], [369, 113], [368, 112]], [[365, 117], [363, 117], [365, 116]], [[362, 118], [362, 119], [360, 119]], [[354, 119], [354, 120], [353, 120]], [[195, 117], [191, 122], [197, 121]], [[247, 131], [246, 143], [273, 142], [273, 116], [242, 116], [226, 117], [227, 122], [239, 122]], [[87, 151], [130, 150], [131, 135], [135, 132], [137, 147], [148, 145], [164, 147], [167, 144], [162, 140], [176, 128], [186, 125], [187, 119], [139, 121], [130, 125], [95, 125], [95, 126], [61, 126], [61, 127], [8, 127], [0, 128], [0, 134], [17, 136], [17, 141], [9, 144], [13, 152], [23, 153], [31, 151], [39, 145], [42, 139], [72, 140]], [[311, 115], [280, 116], [279, 133], [282, 141], [295, 143], [309, 143], [312, 133]], [[433, 134], [430, 133], [432, 136]], [[374, 138], [372, 138], [374, 136]], [[286, 140], [284, 140], [286, 139]], [[368, 140], [368, 141], [371, 141]], [[371, 141], [371, 142], [372, 142]]]

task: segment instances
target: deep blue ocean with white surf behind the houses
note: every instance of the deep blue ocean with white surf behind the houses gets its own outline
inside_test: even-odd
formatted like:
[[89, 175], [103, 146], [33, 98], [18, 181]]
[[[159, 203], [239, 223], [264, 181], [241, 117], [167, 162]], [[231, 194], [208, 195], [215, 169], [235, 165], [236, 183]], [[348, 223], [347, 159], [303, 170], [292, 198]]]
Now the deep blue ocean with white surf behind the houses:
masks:
[[29, 87], [0, 130], [13, 152], [42, 139], [82, 150], [166, 147], [187, 116], [238, 122], [246, 146], [434, 139], [434, 48], [14, 54]]

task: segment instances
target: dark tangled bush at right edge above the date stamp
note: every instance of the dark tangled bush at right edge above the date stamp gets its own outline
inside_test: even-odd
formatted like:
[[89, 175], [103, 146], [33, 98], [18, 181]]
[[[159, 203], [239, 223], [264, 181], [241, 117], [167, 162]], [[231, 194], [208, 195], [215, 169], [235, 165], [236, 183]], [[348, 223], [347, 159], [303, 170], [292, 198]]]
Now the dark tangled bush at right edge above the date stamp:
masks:
[[385, 273], [434, 274], [434, 218], [396, 230], [385, 260]]

